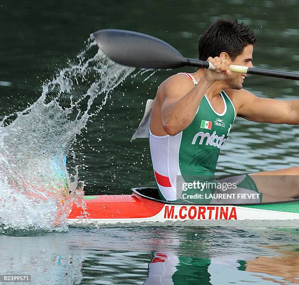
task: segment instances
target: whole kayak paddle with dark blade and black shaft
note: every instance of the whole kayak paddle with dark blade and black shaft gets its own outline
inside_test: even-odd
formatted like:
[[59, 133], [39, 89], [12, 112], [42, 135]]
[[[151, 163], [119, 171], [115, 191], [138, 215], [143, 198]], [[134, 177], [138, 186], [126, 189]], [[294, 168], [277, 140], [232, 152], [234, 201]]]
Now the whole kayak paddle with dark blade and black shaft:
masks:
[[[126, 30], [104, 29], [93, 33], [93, 35], [99, 48], [107, 57], [122, 65], [153, 69], [195, 66], [215, 70], [212, 63], [185, 58], [169, 43], [146, 34]], [[243, 74], [299, 80], [299, 74], [291, 72], [250, 68], [233, 64], [230, 65], [230, 70]]]

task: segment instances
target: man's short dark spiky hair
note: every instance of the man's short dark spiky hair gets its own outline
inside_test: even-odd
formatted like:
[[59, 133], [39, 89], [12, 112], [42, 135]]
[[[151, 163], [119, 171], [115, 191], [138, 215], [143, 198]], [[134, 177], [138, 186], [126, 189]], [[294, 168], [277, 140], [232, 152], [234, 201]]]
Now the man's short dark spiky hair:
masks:
[[232, 60], [243, 52], [245, 46], [256, 45], [257, 38], [243, 22], [219, 19], [215, 21], [198, 41], [198, 58], [206, 61], [226, 52]]

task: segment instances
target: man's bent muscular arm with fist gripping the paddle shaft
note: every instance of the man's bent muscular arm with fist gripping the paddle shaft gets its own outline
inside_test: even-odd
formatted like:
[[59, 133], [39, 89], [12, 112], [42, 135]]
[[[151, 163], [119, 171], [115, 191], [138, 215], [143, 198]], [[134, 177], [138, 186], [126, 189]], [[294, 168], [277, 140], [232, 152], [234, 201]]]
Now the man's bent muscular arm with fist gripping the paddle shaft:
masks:
[[197, 86], [194, 87], [194, 83], [182, 74], [172, 76], [159, 86], [150, 122], [154, 135], [174, 136], [187, 128], [208, 88], [215, 81], [224, 80], [232, 74], [226, 57], [210, 57], [208, 61], [214, 64], [216, 70], [205, 69]]

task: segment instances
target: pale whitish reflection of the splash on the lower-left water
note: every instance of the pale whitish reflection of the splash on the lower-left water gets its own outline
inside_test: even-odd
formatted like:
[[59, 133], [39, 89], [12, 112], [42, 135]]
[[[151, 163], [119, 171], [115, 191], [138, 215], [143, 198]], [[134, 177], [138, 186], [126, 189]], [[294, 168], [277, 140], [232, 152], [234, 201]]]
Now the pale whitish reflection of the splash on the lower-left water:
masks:
[[0, 236], [1, 274], [31, 274], [31, 284], [79, 284], [82, 255], [65, 239]]

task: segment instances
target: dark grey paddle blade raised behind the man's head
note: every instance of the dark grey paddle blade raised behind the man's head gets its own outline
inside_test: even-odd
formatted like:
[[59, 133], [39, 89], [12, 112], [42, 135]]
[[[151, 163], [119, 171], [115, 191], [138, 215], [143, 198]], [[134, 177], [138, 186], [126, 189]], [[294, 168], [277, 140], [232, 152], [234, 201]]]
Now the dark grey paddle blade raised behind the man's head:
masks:
[[122, 65], [158, 69], [187, 64], [187, 59], [173, 46], [142, 33], [105, 29], [93, 35], [107, 57]]

